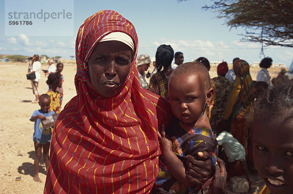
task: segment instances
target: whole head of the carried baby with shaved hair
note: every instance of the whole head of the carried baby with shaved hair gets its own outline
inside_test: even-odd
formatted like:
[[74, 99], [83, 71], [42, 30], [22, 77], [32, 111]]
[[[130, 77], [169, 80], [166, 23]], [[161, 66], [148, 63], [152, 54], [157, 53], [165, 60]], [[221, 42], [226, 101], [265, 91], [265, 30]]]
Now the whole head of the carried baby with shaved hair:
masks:
[[190, 127], [205, 114], [212, 98], [209, 72], [200, 63], [183, 63], [172, 71], [168, 82], [173, 114]]

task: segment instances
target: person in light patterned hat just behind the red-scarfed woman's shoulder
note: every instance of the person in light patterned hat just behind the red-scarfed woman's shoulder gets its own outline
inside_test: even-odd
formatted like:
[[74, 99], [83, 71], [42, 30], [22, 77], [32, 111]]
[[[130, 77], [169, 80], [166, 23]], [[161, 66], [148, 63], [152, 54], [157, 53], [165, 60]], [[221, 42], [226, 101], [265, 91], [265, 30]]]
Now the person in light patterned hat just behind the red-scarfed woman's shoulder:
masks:
[[148, 55], [140, 55], [137, 57], [137, 71], [139, 76], [139, 82], [142, 88], [148, 89], [148, 81], [146, 80], [146, 73], [149, 64], [151, 63], [150, 57]]

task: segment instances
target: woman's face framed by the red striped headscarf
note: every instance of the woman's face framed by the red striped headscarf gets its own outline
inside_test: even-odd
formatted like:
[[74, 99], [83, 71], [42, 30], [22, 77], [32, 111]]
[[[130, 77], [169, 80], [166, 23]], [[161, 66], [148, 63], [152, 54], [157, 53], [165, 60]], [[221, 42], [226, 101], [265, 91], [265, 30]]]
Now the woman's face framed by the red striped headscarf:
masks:
[[99, 42], [87, 65], [94, 88], [104, 97], [113, 97], [122, 90], [130, 71], [132, 50], [125, 43], [111, 40]]

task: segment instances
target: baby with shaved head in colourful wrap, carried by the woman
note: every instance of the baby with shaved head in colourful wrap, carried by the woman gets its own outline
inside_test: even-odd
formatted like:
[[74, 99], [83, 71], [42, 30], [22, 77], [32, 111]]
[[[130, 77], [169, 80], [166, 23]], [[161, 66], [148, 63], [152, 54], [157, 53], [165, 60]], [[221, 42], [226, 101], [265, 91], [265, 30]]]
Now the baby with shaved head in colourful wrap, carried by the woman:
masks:
[[193, 193], [199, 187], [188, 181], [186, 175], [186, 156], [197, 156], [198, 152], [210, 152], [215, 165], [217, 140], [210, 130], [206, 107], [212, 98], [209, 72], [200, 63], [184, 63], [170, 75], [168, 92], [172, 120], [162, 138], [159, 135], [162, 157], [160, 171], [156, 180], [157, 193]]

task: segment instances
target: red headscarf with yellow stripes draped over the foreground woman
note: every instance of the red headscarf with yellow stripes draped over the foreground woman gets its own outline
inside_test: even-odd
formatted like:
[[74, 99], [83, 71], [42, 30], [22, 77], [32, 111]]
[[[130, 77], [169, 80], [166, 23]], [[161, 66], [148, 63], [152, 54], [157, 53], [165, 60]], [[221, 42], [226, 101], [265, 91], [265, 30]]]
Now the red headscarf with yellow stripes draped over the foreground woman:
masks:
[[[122, 91], [102, 97], [88, 75], [87, 61], [98, 42], [123, 32], [134, 43]], [[100, 11], [84, 21], [76, 39], [73, 97], [52, 134], [44, 193], [148, 193], [159, 171], [158, 127], [168, 124], [167, 101], [142, 89], [135, 66], [138, 39], [119, 13]]]

